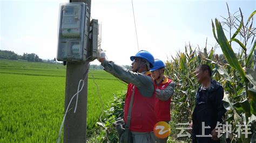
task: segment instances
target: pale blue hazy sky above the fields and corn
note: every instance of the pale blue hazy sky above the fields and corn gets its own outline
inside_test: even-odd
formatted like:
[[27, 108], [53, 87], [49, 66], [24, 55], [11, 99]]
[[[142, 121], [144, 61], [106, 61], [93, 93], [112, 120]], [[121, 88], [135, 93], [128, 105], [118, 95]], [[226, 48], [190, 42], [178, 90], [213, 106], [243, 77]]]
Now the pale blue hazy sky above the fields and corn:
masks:
[[[0, 0], [0, 49], [17, 54], [36, 53], [42, 59], [55, 58], [59, 4], [66, 2]], [[227, 17], [226, 2], [231, 13], [241, 8], [245, 19], [256, 9], [255, 1], [246, 0], [133, 0], [139, 49], [150, 51], [154, 58], [161, 60], [184, 51], [188, 42], [203, 48], [208, 38], [210, 49], [216, 43], [211, 19]], [[129, 57], [138, 52], [131, 1], [92, 0], [91, 16], [102, 22], [102, 48], [107, 58], [120, 65], [130, 65]], [[220, 48], [216, 52], [219, 53]]]

